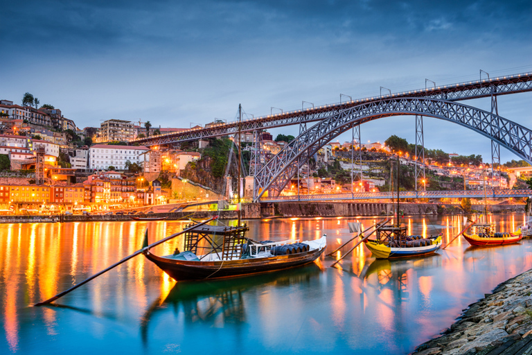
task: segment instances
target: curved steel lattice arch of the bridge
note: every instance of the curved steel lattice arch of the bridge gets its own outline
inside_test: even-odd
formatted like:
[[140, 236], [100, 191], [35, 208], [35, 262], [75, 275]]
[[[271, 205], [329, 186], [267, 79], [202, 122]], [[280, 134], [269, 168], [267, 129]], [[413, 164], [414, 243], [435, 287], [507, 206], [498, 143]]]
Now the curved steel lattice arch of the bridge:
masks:
[[312, 157], [329, 141], [351, 128], [389, 116], [431, 116], [457, 123], [488, 137], [532, 164], [532, 131], [497, 114], [436, 98], [401, 97], [360, 103], [331, 112], [269, 160], [254, 177], [254, 200], [278, 196], [299, 168], [299, 159]]

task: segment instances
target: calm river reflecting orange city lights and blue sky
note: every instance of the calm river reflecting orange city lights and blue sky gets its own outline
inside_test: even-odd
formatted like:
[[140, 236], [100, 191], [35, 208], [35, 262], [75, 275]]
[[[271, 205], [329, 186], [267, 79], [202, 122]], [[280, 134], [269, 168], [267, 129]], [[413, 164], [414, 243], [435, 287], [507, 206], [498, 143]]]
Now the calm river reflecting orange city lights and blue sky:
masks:
[[[522, 214], [490, 216], [499, 231]], [[248, 220], [258, 240], [351, 239], [348, 222], [375, 218]], [[462, 216], [405, 217], [411, 234], [443, 232]], [[471, 248], [457, 239], [432, 257], [375, 260], [359, 245], [330, 268], [302, 268], [176, 283], [135, 257], [53, 306], [33, 307], [185, 223], [86, 222], [0, 225], [0, 354], [407, 354], [449, 327], [497, 284], [532, 268], [532, 240]], [[154, 249], [170, 254], [175, 240]], [[351, 244], [352, 246], [353, 244]], [[351, 248], [351, 247], [350, 247]], [[344, 252], [348, 248], [344, 248]], [[337, 256], [338, 257], [338, 256]]]

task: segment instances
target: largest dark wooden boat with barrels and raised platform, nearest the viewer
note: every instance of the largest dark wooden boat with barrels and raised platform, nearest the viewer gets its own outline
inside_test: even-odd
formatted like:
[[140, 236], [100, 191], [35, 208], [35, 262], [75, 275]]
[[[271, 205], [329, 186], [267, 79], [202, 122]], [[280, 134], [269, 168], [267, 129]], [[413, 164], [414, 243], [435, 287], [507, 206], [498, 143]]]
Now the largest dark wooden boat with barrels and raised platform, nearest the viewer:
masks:
[[[257, 242], [244, 236], [247, 230], [246, 225], [202, 225], [185, 234], [184, 252], [175, 250], [172, 255], [159, 257], [152, 254], [150, 248], [145, 248], [143, 254], [172, 279], [181, 281], [239, 277], [294, 268], [312, 263], [326, 248], [325, 234], [321, 239], [302, 243], [293, 240]], [[285, 252], [281, 252], [283, 248]], [[209, 252], [199, 254], [202, 249]]]

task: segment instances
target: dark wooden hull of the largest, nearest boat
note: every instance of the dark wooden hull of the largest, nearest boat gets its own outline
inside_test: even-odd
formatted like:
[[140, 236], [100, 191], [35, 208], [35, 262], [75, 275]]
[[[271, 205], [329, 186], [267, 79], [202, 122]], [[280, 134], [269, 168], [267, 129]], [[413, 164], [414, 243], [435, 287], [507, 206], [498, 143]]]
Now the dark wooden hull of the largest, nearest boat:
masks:
[[295, 268], [312, 263], [319, 258], [325, 247], [301, 252], [297, 254], [281, 255], [277, 257], [240, 259], [231, 261], [184, 261], [158, 257], [144, 252], [144, 256], [159, 266], [176, 281], [220, 279], [224, 277], [239, 277], [254, 275], [261, 272], [272, 272]]

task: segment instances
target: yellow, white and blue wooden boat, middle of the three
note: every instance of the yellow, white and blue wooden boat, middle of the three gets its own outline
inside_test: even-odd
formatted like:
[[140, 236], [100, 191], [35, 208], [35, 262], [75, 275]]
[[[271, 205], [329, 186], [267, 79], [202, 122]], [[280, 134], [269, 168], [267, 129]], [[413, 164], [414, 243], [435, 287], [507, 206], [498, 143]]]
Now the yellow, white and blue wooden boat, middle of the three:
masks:
[[377, 230], [374, 240], [364, 243], [377, 259], [421, 257], [433, 254], [441, 247], [441, 234], [423, 239], [421, 236], [407, 236], [407, 227], [385, 225]]

